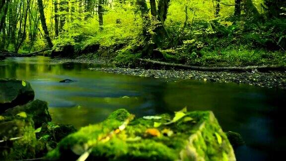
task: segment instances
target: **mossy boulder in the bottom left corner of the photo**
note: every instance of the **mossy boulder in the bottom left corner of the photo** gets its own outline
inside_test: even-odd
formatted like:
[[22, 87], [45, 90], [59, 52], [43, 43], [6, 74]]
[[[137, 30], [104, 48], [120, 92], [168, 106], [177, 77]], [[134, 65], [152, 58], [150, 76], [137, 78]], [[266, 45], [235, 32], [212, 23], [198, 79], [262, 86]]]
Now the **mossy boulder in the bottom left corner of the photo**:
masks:
[[39, 150], [33, 120], [24, 113], [17, 117], [0, 116], [0, 160], [34, 158]]

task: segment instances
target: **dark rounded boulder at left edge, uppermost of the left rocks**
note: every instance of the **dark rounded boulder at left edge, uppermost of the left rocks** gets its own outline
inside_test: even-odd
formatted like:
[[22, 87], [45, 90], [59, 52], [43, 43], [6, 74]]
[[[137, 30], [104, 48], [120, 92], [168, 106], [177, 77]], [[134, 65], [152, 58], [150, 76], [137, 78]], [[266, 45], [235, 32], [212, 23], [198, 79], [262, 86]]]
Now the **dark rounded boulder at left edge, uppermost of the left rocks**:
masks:
[[0, 79], [0, 113], [16, 105], [23, 105], [34, 97], [35, 93], [29, 82]]

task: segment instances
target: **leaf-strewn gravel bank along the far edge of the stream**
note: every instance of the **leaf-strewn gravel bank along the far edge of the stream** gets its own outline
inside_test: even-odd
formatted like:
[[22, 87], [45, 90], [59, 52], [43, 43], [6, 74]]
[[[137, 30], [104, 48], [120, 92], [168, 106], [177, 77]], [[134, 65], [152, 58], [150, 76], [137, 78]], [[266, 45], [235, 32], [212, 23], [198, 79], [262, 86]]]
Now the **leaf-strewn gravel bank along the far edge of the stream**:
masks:
[[90, 68], [89, 70], [133, 75], [140, 77], [153, 77], [168, 80], [200, 80], [206, 82], [220, 83], [242, 83], [260, 87], [275, 87], [286, 89], [286, 71], [277, 72], [259, 72], [253, 70], [250, 72], [203, 72], [191, 70], [175, 70], [175, 69], [143, 69], [143, 68], [122, 68], [115, 67], [108, 59], [52, 59], [51, 63], [88, 63], [88, 64], [110, 64], [103, 68]]

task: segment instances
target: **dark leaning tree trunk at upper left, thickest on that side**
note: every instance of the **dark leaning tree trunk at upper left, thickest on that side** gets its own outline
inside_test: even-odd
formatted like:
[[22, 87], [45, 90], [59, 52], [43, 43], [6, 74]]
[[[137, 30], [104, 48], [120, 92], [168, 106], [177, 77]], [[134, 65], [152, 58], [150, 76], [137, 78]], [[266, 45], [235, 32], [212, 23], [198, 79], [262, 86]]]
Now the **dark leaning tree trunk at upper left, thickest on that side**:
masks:
[[49, 36], [49, 31], [46, 23], [46, 18], [45, 18], [45, 13], [44, 13], [44, 6], [43, 6], [43, 0], [38, 0], [38, 6], [39, 6], [39, 12], [40, 12], [40, 18], [41, 18], [41, 23], [42, 23], [42, 28], [45, 33], [45, 38], [47, 40], [47, 44], [49, 48], [53, 47], [52, 40]]

